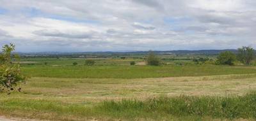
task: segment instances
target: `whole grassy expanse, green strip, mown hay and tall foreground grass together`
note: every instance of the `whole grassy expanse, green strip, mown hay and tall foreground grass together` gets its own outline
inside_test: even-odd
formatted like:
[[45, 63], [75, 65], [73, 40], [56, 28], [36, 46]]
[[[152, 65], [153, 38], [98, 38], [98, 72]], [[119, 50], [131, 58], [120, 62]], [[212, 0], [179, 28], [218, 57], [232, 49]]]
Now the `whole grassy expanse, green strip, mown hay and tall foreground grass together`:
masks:
[[[78, 65], [72, 66], [75, 60]], [[0, 94], [0, 115], [41, 120], [255, 120], [254, 67], [129, 66], [130, 61], [99, 59], [95, 66], [84, 66], [82, 59], [26, 60], [22, 72], [31, 78], [21, 85], [22, 92]]]

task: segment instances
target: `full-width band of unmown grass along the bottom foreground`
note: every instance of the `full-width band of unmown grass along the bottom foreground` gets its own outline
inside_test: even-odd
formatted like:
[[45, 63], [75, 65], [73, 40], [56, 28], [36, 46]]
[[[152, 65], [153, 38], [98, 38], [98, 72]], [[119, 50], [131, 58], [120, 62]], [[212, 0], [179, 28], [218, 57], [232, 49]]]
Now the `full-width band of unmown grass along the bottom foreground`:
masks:
[[1, 113], [47, 120], [256, 120], [256, 92], [233, 97], [154, 97], [123, 99], [95, 106], [44, 100], [4, 99]]

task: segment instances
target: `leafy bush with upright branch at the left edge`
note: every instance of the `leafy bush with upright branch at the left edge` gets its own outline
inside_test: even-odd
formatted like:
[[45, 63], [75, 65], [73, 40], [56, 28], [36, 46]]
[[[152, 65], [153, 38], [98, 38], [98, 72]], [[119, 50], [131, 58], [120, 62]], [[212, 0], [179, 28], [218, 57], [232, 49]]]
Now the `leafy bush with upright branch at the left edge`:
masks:
[[[4, 90], [18, 90], [17, 85], [25, 82], [26, 77], [20, 73], [20, 65], [12, 62], [11, 52], [15, 50], [15, 45], [4, 45], [3, 52], [0, 55], [0, 89]], [[19, 55], [14, 56], [19, 60]]]

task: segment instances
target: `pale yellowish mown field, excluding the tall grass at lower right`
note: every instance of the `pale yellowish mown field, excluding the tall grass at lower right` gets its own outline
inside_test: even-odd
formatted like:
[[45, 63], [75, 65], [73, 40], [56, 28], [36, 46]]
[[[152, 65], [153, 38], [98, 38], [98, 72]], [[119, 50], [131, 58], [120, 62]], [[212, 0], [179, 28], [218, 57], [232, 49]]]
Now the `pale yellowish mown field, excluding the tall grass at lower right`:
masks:
[[[4, 115], [48, 120], [92, 120], [72, 113], [104, 100], [168, 96], [242, 96], [255, 89], [256, 74], [141, 79], [30, 78], [22, 92], [0, 94]], [[64, 106], [64, 109], [62, 109]], [[69, 113], [68, 113], [69, 112]], [[72, 114], [72, 117], [67, 114]], [[105, 118], [102, 118], [105, 119]]]

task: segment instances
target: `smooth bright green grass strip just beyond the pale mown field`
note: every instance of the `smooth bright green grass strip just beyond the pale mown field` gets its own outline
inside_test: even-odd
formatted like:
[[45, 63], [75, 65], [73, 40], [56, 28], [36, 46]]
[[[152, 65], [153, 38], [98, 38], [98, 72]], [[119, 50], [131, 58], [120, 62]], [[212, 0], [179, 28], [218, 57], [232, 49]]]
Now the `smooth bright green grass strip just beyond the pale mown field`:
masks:
[[186, 66], [25, 66], [24, 74], [54, 78], [157, 78], [256, 73], [255, 68], [216, 65]]

